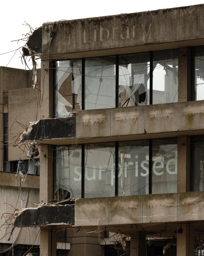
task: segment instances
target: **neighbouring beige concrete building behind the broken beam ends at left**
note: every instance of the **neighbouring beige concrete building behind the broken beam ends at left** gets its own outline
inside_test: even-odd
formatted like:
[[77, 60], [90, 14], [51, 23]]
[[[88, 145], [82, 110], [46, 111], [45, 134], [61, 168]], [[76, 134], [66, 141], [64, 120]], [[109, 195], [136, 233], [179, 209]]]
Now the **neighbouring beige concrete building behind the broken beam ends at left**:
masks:
[[[13, 230], [17, 209], [39, 204], [39, 167], [26, 157], [24, 145], [13, 147], [25, 129], [22, 124], [29, 125], [30, 118], [35, 120], [35, 111], [32, 109], [36, 109], [37, 105], [38, 93], [32, 88], [32, 70], [0, 67], [1, 256], [22, 255], [31, 247], [33, 256], [39, 255], [40, 251], [39, 228], [22, 227]], [[13, 138], [11, 144], [8, 143], [8, 134]], [[12, 152], [9, 152], [9, 147]]]

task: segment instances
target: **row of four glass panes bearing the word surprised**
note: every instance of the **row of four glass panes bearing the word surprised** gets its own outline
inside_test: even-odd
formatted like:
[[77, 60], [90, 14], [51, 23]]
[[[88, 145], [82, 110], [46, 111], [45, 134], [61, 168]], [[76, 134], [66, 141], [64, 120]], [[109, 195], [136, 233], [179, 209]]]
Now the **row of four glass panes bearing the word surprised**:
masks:
[[55, 155], [57, 200], [177, 192], [176, 138], [58, 146]]

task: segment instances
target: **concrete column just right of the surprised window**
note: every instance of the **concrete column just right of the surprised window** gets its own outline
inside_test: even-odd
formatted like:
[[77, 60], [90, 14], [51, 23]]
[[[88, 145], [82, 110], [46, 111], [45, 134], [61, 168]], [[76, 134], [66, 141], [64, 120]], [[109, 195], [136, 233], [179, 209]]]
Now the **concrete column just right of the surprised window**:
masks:
[[190, 191], [190, 137], [178, 138], [177, 193]]

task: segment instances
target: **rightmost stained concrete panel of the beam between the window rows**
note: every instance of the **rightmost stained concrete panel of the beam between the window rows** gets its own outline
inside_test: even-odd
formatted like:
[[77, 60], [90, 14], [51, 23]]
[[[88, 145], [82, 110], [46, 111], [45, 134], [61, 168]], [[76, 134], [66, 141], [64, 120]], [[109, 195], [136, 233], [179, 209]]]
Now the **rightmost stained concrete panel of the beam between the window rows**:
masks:
[[182, 102], [179, 105], [179, 130], [204, 129], [204, 101]]

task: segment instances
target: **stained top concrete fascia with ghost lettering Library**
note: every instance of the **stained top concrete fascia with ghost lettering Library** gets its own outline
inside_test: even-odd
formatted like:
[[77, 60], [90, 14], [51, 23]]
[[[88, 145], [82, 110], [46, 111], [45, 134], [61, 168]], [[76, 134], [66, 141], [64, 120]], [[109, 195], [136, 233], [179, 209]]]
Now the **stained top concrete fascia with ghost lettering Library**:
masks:
[[188, 41], [203, 38], [203, 21], [204, 5], [195, 5], [44, 23], [42, 52], [48, 54], [49, 50], [49, 56], [57, 56], [74, 52]]

